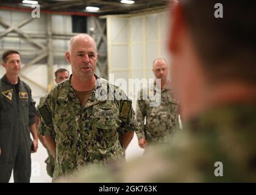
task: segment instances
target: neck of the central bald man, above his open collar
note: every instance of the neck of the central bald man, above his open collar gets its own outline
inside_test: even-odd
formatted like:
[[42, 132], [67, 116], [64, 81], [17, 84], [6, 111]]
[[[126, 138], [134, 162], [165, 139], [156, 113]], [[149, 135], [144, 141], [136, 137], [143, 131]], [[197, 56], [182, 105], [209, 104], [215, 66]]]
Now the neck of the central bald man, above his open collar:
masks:
[[77, 77], [71, 77], [71, 85], [76, 91], [90, 91], [95, 87], [96, 77], [93, 75], [88, 79], [78, 79]]

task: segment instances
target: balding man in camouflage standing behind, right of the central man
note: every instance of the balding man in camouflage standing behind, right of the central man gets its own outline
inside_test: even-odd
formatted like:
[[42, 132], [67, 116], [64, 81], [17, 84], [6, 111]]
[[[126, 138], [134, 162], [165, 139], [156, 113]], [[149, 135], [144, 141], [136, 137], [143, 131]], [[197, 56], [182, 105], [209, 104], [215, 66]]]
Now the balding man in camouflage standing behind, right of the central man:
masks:
[[[155, 78], [160, 80], [159, 86], [155, 80], [152, 85], [154, 88], [149, 85], [142, 88], [138, 93], [139, 99], [136, 107], [136, 118], [140, 127], [136, 133], [138, 144], [143, 149], [152, 143], [165, 143], [168, 135], [172, 135], [174, 130], [179, 127], [177, 100], [167, 85], [168, 66], [166, 60], [155, 59], [152, 71]], [[159, 98], [155, 98], [157, 93]], [[144, 124], [145, 117], [146, 124]]]

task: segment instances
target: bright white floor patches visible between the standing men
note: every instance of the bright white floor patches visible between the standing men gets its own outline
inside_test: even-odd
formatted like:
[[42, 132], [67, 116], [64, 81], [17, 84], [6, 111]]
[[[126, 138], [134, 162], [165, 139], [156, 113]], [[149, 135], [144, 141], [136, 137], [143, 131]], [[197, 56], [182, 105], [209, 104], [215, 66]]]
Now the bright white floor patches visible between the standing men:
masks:
[[[131, 160], [134, 157], [141, 156], [143, 154], [143, 149], [138, 146], [137, 136], [134, 135], [133, 140], [126, 150], [126, 159], [127, 161]], [[43, 145], [39, 143], [38, 151], [35, 154], [31, 155], [32, 168], [31, 168], [31, 183], [48, 183], [51, 182], [51, 177], [48, 176], [46, 172], [46, 163], [44, 160], [48, 157], [46, 149]], [[10, 179], [10, 183], [13, 182], [13, 176]]]

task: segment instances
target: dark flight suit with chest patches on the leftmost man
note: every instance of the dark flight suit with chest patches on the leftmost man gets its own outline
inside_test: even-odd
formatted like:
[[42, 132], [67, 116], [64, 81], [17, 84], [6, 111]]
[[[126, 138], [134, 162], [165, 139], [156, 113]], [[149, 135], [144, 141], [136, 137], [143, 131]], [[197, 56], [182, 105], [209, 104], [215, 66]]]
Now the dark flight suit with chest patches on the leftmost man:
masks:
[[0, 182], [29, 182], [31, 174], [31, 124], [35, 102], [29, 85], [19, 79], [18, 91], [4, 75], [0, 80]]

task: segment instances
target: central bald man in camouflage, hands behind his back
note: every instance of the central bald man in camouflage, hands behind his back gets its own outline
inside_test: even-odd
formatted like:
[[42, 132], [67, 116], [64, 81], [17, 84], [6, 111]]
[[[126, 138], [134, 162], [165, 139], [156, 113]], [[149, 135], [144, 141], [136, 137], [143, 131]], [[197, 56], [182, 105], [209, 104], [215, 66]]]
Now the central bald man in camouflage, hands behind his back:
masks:
[[94, 74], [98, 54], [93, 38], [71, 38], [66, 59], [73, 74], [52, 88], [39, 107], [38, 133], [55, 157], [54, 179], [87, 163], [124, 160], [138, 129], [132, 101]]

